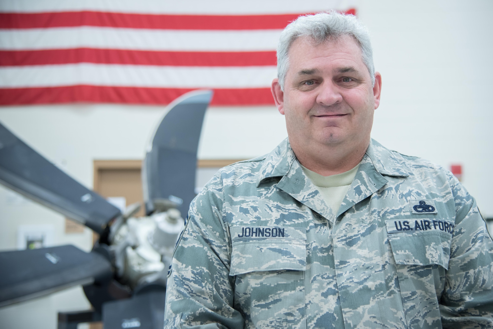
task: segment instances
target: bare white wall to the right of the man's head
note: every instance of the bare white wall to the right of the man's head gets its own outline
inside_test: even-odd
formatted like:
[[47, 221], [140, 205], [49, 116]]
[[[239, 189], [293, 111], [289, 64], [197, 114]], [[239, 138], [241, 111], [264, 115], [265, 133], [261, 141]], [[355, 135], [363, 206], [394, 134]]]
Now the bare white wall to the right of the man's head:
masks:
[[383, 75], [373, 137], [447, 168], [462, 164], [463, 184], [493, 216], [493, 2], [363, 1], [359, 8]]

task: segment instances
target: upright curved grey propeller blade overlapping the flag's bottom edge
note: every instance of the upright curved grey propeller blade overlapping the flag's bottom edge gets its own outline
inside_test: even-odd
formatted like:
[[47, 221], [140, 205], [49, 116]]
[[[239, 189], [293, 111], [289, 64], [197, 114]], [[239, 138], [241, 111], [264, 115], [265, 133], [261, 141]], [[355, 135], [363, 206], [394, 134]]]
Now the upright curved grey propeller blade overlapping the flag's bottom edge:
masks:
[[142, 185], [147, 214], [154, 201], [170, 199], [186, 216], [195, 197], [197, 148], [204, 114], [212, 91], [187, 93], [170, 104], [171, 109], [151, 137], [142, 166]]

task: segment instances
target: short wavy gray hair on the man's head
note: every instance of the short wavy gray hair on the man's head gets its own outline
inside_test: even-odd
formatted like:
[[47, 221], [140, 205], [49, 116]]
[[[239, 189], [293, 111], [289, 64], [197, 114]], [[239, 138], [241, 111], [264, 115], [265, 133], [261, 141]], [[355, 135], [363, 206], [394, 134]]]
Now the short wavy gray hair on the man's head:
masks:
[[344, 35], [351, 36], [358, 43], [363, 63], [368, 68], [372, 85], [375, 85], [375, 66], [368, 29], [356, 16], [330, 10], [315, 15], [300, 16], [282, 31], [277, 49], [278, 79], [281, 90], [284, 91], [284, 79], [289, 68], [289, 49], [297, 38], [309, 37], [315, 41], [315, 45], [318, 45], [331, 37], [337, 39]]

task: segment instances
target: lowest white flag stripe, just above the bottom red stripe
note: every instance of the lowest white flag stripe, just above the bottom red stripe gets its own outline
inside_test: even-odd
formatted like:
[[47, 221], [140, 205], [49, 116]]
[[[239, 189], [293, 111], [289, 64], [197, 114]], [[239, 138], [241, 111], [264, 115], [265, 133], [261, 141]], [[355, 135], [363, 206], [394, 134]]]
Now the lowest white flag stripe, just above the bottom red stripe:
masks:
[[69, 64], [0, 67], [0, 88], [71, 85], [155, 88], [262, 88], [276, 66], [200, 67]]

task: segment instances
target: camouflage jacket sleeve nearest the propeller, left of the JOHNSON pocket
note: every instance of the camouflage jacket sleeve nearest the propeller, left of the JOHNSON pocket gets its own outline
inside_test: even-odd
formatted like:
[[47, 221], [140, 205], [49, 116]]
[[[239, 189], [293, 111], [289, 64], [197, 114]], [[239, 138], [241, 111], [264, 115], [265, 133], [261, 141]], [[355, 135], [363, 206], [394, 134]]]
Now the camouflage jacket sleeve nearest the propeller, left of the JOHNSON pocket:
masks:
[[232, 307], [231, 243], [222, 219], [223, 187], [216, 175], [190, 204], [168, 274], [165, 328], [243, 328]]

